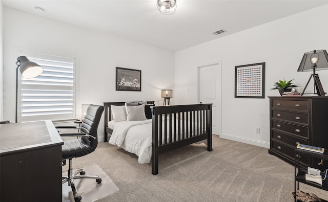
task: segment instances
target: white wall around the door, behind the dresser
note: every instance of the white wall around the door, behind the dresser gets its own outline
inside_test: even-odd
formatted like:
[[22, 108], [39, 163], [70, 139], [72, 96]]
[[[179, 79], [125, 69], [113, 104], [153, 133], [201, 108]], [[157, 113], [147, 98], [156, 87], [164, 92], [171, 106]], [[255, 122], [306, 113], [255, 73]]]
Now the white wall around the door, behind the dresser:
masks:
[[[328, 5], [228, 35], [175, 53], [175, 103], [197, 102], [197, 66], [222, 61], [220, 137], [270, 147], [269, 98], [273, 82], [295, 79], [302, 87], [312, 72], [297, 72], [305, 52], [328, 50]], [[229, 32], [229, 30], [228, 30]], [[265, 62], [265, 99], [234, 98], [235, 66]], [[186, 76], [188, 72], [188, 76]], [[317, 71], [328, 92], [328, 71]], [[312, 80], [313, 82], [313, 80]], [[311, 82], [311, 84], [312, 84]], [[313, 91], [313, 85], [306, 92]], [[305, 92], [305, 93], [306, 93]], [[260, 134], [255, 128], [260, 127]]]

